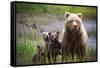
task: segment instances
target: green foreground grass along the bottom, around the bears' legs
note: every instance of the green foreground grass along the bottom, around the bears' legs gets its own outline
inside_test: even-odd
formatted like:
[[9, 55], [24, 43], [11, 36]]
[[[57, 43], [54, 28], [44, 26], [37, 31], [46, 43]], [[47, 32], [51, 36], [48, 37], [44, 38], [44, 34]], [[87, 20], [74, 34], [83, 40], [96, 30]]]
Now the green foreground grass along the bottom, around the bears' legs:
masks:
[[[38, 38], [37, 40], [30, 40], [27, 38], [19, 38], [17, 39], [16, 43], [16, 64], [17, 65], [27, 65], [33, 64], [32, 57], [37, 53], [37, 45], [43, 45], [43, 39]], [[76, 56], [74, 57], [75, 60], [71, 59], [71, 56], [66, 56], [66, 60], [63, 62], [80, 62], [80, 61], [95, 61], [96, 60], [96, 49], [95, 48], [88, 48], [87, 49], [87, 56], [84, 60], [77, 59]], [[57, 56], [57, 62], [62, 62], [62, 56]], [[38, 64], [48, 64], [47, 57], [42, 57], [41, 62]]]

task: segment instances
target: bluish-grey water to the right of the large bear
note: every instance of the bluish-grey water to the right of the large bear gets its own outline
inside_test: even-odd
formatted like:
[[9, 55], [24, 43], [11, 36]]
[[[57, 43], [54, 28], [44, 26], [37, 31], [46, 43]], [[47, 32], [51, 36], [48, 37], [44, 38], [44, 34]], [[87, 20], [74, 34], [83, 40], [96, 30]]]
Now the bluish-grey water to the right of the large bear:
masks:
[[96, 21], [95, 20], [86, 20], [84, 21], [84, 26], [88, 32], [89, 36], [89, 46], [92, 48], [96, 47]]

